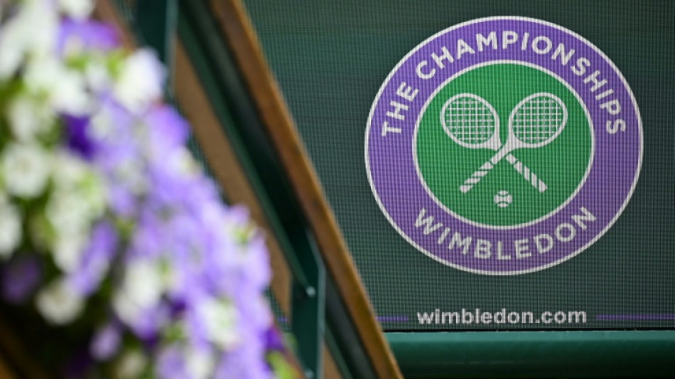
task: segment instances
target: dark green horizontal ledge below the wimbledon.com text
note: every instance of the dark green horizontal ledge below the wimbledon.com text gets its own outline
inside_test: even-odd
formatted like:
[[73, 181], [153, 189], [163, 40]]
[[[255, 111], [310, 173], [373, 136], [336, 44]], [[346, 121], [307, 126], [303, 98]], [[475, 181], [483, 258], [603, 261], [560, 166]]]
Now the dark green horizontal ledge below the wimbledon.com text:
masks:
[[406, 378], [670, 378], [673, 331], [387, 333]]

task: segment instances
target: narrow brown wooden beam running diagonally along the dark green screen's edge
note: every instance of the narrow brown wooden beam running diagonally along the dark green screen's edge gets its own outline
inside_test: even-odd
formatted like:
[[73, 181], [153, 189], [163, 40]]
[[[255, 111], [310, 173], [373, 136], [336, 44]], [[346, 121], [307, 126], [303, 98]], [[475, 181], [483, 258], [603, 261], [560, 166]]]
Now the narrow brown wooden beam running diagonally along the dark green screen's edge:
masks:
[[210, 0], [210, 7], [378, 377], [402, 378], [244, 6], [240, 0]]

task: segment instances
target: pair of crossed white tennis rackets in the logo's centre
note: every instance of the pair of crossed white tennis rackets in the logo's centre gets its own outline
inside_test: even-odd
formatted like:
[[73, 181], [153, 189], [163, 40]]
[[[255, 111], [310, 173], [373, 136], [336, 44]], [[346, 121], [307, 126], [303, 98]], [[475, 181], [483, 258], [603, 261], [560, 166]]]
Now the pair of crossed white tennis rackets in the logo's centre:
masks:
[[500, 118], [487, 100], [471, 93], [450, 97], [441, 109], [441, 123], [446, 134], [468, 149], [492, 149], [495, 155], [466, 179], [460, 191], [467, 193], [480, 179], [506, 159], [539, 192], [546, 183], [513, 156], [517, 149], [546, 146], [560, 135], [567, 124], [567, 108], [562, 100], [548, 92], [525, 97], [509, 115], [509, 137], [502, 144]]

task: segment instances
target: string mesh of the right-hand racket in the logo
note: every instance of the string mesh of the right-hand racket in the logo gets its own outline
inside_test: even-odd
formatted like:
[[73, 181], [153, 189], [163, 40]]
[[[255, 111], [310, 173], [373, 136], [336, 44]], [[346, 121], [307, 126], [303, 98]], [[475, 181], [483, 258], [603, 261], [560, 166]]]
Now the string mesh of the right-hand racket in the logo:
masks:
[[513, 133], [522, 142], [539, 144], [553, 137], [563, 126], [564, 110], [551, 97], [534, 97], [524, 103], [513, 119]]

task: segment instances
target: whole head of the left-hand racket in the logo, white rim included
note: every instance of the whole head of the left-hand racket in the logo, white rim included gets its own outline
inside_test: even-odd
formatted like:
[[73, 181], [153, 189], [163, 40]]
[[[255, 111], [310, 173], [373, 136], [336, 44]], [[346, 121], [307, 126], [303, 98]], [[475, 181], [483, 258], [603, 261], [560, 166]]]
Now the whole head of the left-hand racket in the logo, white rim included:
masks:
[[[443, 130], [457, 144], [469, 149], [497, 149], [500, 119], [487, 100], [472, 93], [450, 97], [441, 108]], [[495, 141], [496, 136], [496, 141]]]

